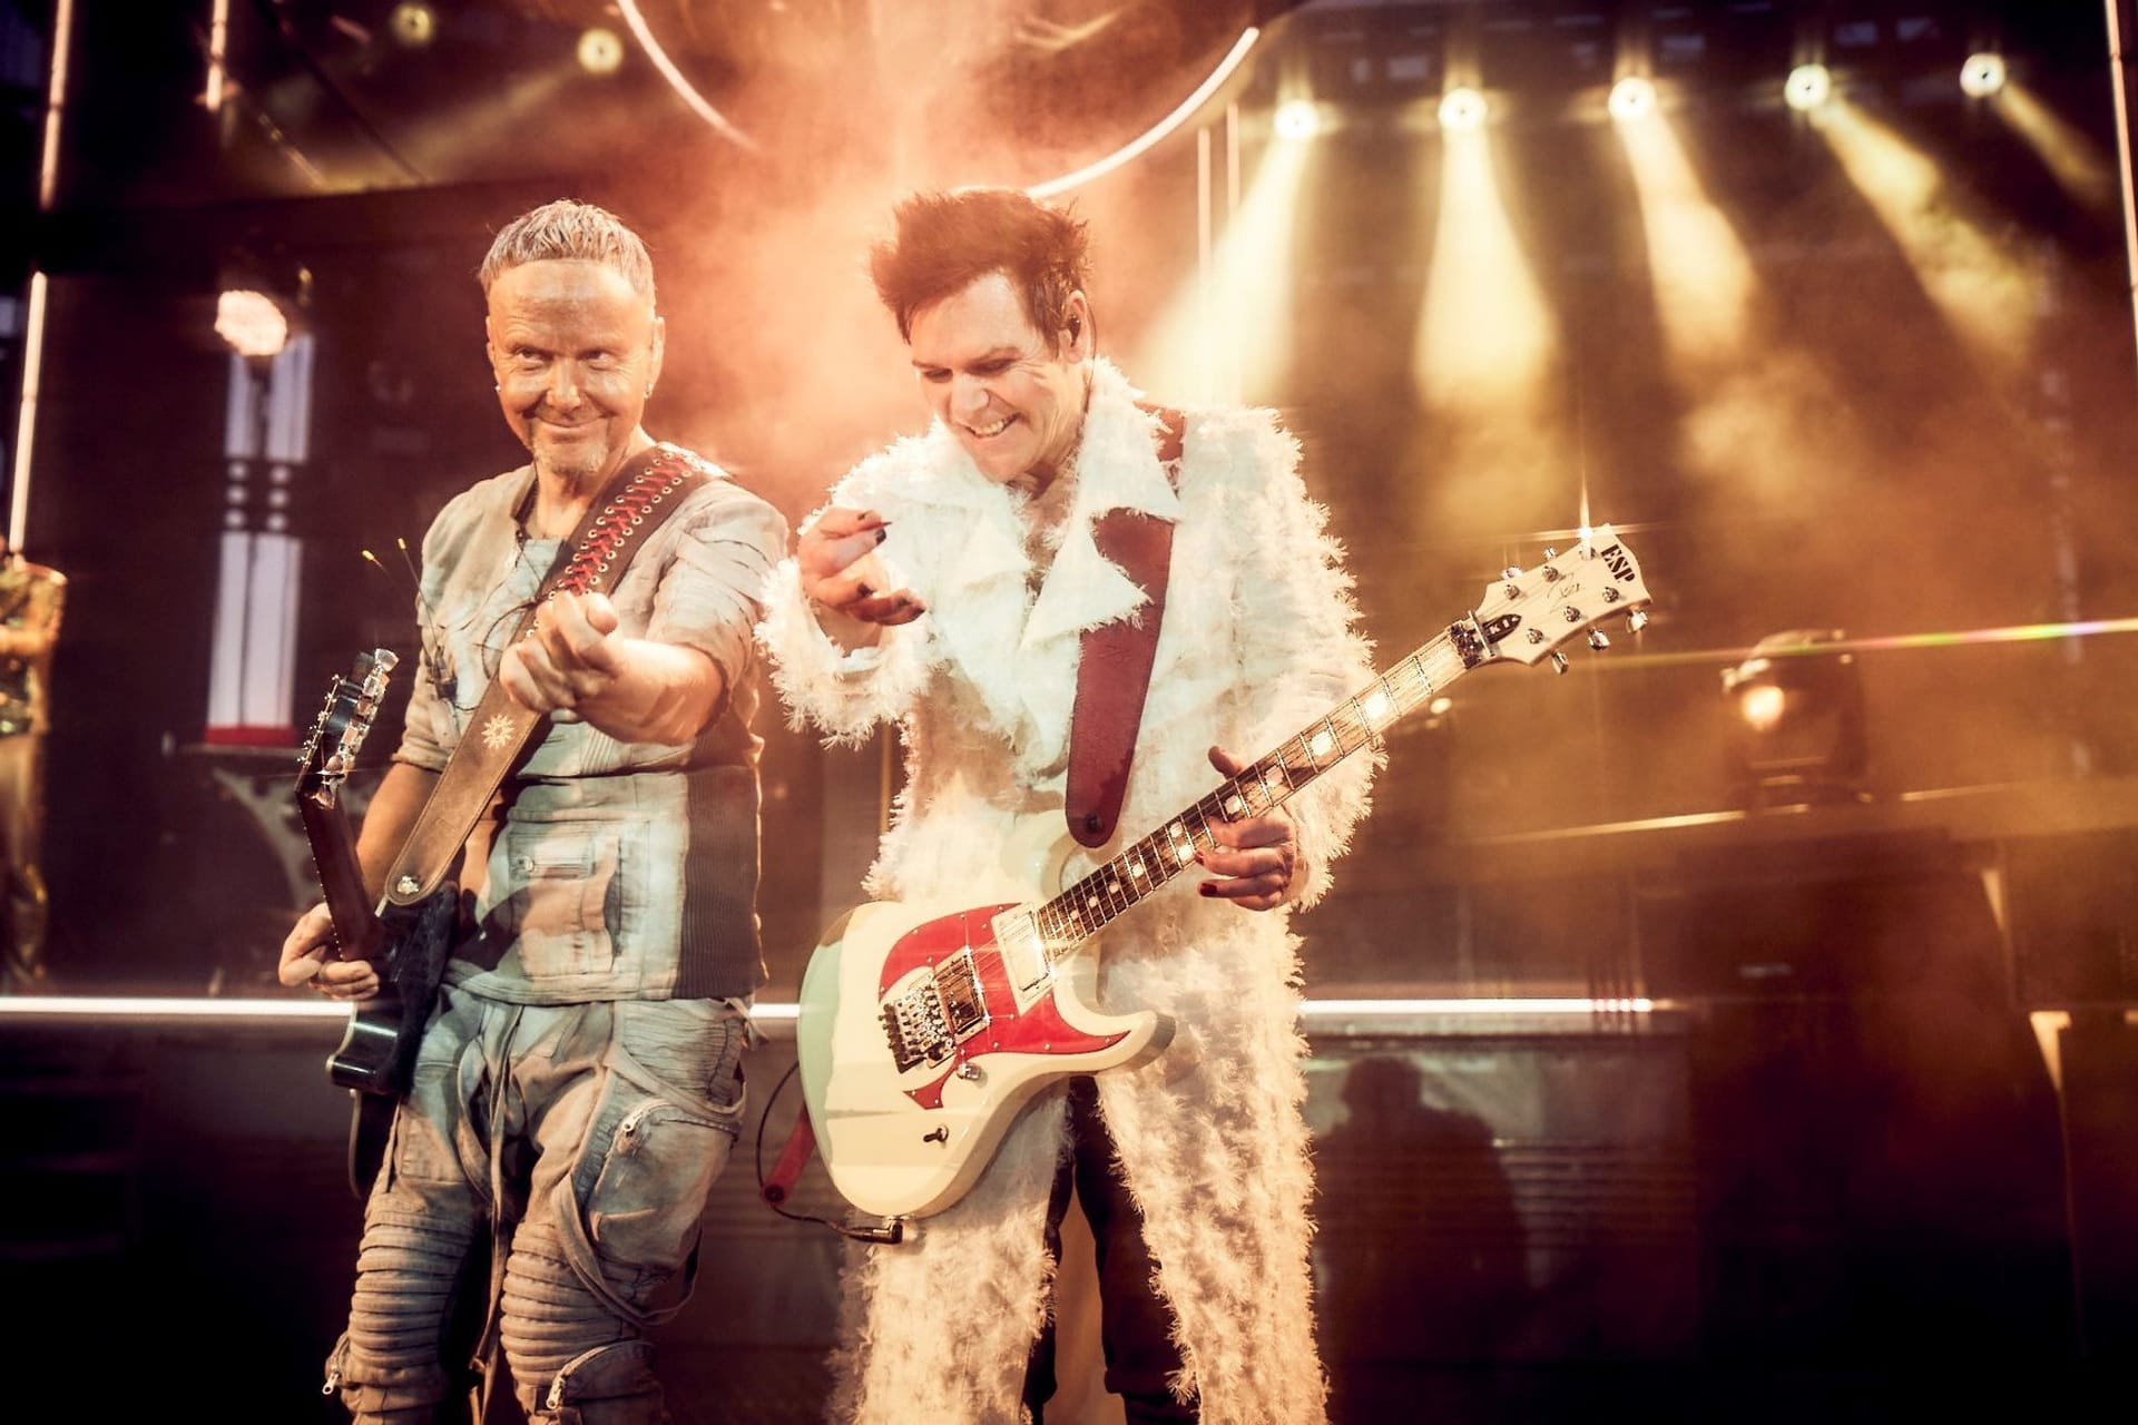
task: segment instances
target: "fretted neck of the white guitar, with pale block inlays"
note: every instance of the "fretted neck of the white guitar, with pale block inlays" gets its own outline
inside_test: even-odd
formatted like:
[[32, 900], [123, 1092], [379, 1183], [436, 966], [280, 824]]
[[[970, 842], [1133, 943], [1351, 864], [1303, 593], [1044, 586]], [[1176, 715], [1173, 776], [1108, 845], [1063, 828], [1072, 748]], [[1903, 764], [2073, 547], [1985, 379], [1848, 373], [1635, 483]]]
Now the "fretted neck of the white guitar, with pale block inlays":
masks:
[[1195, 863], [1197, 850], [1219, 846], [1212, 825], [1261, 816], [1283, 805], [1302, 786], [1375, 743], [1383, 729], [1424, 707], [1441, 688], [1477, 667], [1484, 649], [1486, 637], [1475, 622], [1452, 624], [1355, 696], [1308, 722], [1208, 797], [1039, 906], [1033, 923], [1045, 944], [1048, 961], [1063, 959], [1122, 910], [1157, 893]]

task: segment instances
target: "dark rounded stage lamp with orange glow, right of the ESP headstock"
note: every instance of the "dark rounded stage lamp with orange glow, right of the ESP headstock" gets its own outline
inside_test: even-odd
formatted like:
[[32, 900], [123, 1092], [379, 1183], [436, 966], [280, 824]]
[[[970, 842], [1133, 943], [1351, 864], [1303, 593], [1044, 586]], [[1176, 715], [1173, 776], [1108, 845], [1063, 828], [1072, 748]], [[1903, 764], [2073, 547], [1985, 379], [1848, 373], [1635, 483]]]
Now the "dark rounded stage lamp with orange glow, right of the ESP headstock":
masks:
[[1866, 801], [1862, 682], [1839, 628], [1777, 632], [1723, 671], [1730, 782], [1751, 810]]

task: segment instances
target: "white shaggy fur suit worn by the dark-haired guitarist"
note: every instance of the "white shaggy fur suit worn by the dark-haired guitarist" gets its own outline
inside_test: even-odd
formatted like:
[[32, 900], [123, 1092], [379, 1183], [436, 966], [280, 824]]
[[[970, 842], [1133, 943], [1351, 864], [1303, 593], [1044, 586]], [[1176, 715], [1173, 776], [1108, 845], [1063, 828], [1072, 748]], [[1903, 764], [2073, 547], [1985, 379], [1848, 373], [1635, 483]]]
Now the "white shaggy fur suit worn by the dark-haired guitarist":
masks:
[[[1116, 840], [1073, 859], [1071, 876], [1210, 793], [1221, 780], [1210, 743], [1261, 756], [1373, 677], [1341, 551], [1274, 417], [1189, 412], [1176, 491], [1135, 400], [1120, 372], [1093, 365], [1071, 508], [1037, 598], [1020, 498], [981, 476], [941, 423], [859, 464], [830, 498], [889, 519], [881, 553], [926, 602], [921, 620], [842, 654], [817, 628], [793, 562], [774, 575], [759, 639], [795, 724], [857, 741], [894, 720], [904, 735], [907, 784], [870, 895], [973, 899], [1018, 818], [1060, 820], [1080, 635], [1144, 602], [1093, 543], [1110, 508], [1174, 521], [1172, 579]], [[1341, 763], [1287, 803], [1304, 865], [1289, 906], [1326, 891], [1379, 756]], [[1176, 1316], [1187, 1363], [1176, 1389], [1202, 1391], [1208, 1425], [1315, 1425], [1328, 1389], [1308, 1282], [1298, 938], [1287, 908], [1242, 910], [1191, 880], [1097, 942], [1101, 1008], [1176, 1021], [1161, 1055], [1099, 1075], [1099, 1102]], [[836, 1419], [1022, 1419], [1063, 1147], [1056, 1087], [1026, 1109], [969, 1196], [902, 1246], [853, 1250]]]

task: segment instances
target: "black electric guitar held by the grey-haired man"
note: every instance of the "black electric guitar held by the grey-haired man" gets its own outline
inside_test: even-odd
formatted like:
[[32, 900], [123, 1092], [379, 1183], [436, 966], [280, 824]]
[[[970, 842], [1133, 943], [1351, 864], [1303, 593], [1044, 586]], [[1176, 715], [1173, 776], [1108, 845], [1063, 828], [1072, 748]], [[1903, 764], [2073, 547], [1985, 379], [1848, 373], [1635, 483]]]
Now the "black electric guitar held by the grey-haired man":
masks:
[[357, 1196], [385, 1156], [393, 1105], [408, 1090], [415, 1047], [430, 1019], [451, 949], [455, 893], [440, 889], [410, 910], [385, 919], [363, 891], [357, 844], [342, 810], [342, 786], [370, 735], [398, 658], [389, 649], [357, 654], [348, 677], [334, 679], [312, 724], [297, 769], [297, 814], [312, 848], [312, 867], [334, 921], [336, 953], [378, 966], [378, 993], [348, 1011], [348, 1030], [327, 1055], [327, 1077], [351, 1090], [348, 1181]]

